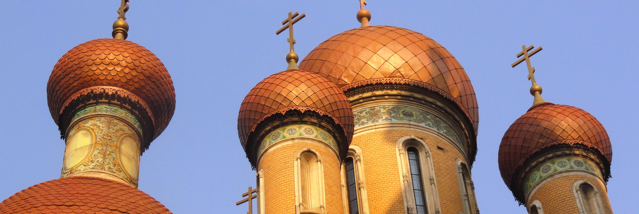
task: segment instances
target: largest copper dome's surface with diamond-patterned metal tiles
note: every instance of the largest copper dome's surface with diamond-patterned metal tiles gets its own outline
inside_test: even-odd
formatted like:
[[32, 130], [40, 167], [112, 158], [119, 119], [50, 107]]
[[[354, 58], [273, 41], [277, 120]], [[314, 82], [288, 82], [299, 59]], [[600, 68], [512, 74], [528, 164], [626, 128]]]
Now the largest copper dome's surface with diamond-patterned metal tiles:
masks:
[[364, 84], [412, 84], [449, 98], [472, 121], [479, 113], [470, 79], [442, 45], [424, 34], [392, 26], [351, 29], [328, 38], [300, 63], [346, 90]]

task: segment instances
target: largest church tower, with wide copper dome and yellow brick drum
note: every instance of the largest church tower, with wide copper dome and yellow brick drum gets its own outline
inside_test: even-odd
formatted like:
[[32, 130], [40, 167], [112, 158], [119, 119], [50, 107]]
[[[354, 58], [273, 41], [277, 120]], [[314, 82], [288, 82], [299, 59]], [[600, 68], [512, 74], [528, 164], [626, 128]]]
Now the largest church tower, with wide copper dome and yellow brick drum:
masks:
[[479, 213], [470, 169], [477, 101], [455, 57], [424, 34], [370, 26], [328, 38], [300, 63], [341, 89], [355, 116], [342, 164], [344, 213]]

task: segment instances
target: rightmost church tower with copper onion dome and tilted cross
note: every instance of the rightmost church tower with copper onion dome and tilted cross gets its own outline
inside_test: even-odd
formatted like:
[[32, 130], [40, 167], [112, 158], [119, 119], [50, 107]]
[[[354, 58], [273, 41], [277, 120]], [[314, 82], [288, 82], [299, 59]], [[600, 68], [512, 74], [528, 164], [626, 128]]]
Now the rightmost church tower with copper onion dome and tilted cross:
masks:
[[597, 118], [577, 107], [546, 102], [522, 47], [535, 96], [528, 111], [508, 128], [499, 146], [499, 169], [515, 199], [534, 214], [612, 214], [606, 182], [612, 146]]

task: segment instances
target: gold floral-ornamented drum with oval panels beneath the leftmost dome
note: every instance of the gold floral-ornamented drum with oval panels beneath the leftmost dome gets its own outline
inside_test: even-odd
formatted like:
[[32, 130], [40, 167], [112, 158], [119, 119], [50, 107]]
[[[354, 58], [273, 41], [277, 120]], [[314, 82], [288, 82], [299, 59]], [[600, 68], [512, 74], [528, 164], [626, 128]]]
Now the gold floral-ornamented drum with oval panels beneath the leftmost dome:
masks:
[[[88, 135], [88, 140], [76, 140], [77, 135]], [[73, 126], [69, 136], [61, 178], [81, 171], [105, 171], [137, 187], [140, 141], [127, 123], [109, 117], [88, 118]], [[121, 151], [123, 140], [132, 141], [128, 144], [134, 146], [127, 146], [126, 151]], [[120, 154], [123, 152], [131, 158], [123, 159], [125, 156]]]

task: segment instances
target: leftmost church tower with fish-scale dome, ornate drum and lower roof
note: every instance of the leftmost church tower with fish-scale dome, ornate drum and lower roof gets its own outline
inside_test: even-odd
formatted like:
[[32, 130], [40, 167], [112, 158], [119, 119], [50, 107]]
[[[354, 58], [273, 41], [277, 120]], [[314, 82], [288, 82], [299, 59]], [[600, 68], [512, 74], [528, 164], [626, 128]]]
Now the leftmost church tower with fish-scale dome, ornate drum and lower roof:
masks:
[[127, 3], [112, 39], [73, 47], [49, 77], [49, 111], [66, 144], [61, 178], [12, 195], [0, 213], [171, 213], [137, 185], [140, 156], [173, 116], [173, 81], [155, 54], [126, 40]]

